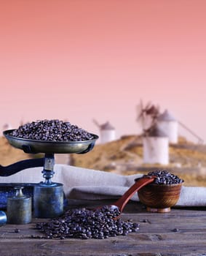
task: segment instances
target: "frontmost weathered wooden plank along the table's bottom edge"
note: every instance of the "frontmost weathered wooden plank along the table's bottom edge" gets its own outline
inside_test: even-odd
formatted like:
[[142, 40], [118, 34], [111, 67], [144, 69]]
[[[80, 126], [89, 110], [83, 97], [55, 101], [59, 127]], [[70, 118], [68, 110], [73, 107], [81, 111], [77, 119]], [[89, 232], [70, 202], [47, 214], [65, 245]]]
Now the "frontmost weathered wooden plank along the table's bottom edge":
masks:
[[[130, 236], [130, 235], [129, 235]], [[128, 237], [129, 237], [128, 236]], [[205, 241], [140, 241], [138, 238], [107, 238], [105, 240], [64, 241], [8, 240], [1, 243], [1, 255], [140, 255], [140, 253], [181, 254], [205, 253]]]

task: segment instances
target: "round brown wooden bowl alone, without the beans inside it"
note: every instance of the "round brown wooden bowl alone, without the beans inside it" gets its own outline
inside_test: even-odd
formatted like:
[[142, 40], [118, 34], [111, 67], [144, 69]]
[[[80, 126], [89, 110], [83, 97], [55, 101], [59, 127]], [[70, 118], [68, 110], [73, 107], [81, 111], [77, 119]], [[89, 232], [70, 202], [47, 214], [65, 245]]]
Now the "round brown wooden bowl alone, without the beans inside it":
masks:
[[143, 203], [147, 211], [168, 212], [170, 207], [175, 206], [181, 195], [180, 184], [148, 184], [138, 191], [140, 202]]

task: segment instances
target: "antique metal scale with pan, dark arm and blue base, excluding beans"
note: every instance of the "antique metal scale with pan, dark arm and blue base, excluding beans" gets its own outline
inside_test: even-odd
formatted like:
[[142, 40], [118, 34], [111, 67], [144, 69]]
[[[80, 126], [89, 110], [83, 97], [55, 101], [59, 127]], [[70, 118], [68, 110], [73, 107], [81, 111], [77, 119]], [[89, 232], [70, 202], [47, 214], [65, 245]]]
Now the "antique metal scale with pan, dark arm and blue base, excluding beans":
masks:
[[86, 154], [95, 146], [98, 135], [83, 141], [29, 140], [11, 136], [14, 129], [3, 132], [9, 144], [28, 154], [44, 153], [44, 158], [27, 159], [6, 167], [0, 166], [0, 176], [11, 176], [30, 167], [43, 166], [44, 181], [33, 186], [33, 214], [37, 218], [54, 218], [63, 214], [63, 184], [52, 182], [55, 154]]

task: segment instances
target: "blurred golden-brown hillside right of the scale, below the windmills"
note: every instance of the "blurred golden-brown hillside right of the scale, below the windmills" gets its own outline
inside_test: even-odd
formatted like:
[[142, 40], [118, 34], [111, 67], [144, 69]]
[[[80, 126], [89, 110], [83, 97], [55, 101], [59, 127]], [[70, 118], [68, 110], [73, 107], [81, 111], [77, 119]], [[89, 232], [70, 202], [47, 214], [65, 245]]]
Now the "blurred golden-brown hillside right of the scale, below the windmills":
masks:
[[186, 185], [206, 186], [206, 146], [179, 138], [169, 148], [169, 165], [143, 164], [141, 136], [128, 135], [106, 144], [97, 144], [88, 154], [72, 154], [71, 164], [122, 175], [165, 169], [181, 176]]

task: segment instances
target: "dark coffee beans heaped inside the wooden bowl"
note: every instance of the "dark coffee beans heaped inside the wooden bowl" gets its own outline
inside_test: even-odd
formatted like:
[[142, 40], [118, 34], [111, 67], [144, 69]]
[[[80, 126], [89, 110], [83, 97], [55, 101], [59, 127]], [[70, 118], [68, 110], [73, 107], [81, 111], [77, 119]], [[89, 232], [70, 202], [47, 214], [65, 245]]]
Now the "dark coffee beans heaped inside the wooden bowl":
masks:
[[145, 176], [156, 176], [154, 179], [155, 184], [180, 184], [183, 183], [183, 180], [173, 173], [168, 172], [167, 170], [155, 170]]

